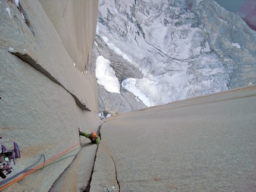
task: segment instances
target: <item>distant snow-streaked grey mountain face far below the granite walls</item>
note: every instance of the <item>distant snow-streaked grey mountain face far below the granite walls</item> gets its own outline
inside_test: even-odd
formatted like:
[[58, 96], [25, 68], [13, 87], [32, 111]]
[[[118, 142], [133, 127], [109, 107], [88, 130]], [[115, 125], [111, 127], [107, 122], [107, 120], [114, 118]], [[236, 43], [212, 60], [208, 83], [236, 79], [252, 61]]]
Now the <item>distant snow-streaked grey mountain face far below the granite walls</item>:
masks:
[[256, 83], [255, 43], [256, 33], [214, 1], [99, 1], [93, 54], [110, 60], [121, 90], [99, 85], [99, 111], [123, 111], [106, 104], [122, 92], [135, 95], [124, 99], [130, 111]]

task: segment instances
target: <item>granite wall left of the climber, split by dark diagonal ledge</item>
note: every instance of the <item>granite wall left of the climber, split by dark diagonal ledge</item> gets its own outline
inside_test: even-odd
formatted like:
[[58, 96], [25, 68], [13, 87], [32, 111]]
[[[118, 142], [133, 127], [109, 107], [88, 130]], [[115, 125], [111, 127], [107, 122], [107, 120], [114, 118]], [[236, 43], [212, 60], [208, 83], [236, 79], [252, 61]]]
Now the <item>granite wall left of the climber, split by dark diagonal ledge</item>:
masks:
[[[11, 177], [41, 155], [49, 160], [79, 143], [77, 127], [96, 131], [102, 123], [89, 59], [98, 1], [6, 0], [0, 10], [1, 143], [11, 148], [16, 141], [21, 150]], [[45, 166], [4, 191], [49, 191], [73, 158]]]

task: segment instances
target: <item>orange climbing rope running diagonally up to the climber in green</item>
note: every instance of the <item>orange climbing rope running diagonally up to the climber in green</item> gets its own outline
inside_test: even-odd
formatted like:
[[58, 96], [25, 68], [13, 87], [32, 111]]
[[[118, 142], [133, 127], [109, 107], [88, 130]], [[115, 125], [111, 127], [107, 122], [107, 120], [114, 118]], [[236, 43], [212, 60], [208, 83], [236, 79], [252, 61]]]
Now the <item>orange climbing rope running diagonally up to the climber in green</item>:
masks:
[[[87, 138], [85, 138], [84, 140], [86, 140]], [[43, 165], [45, 165], [46, 163], [49, 163], [51, 162], [52, 160], [58, 158], [59, 156], [63, 155], [63, 153], [67, 152], [68, 150], [72, 149], [73, 147], [76, 147], [77, 145], [79, 145], [80, 143], [82, 143], [84, 140], [80, 141], [79, 143], [77, 144], [74, 144], [73, 146], [69, 147], [68, 149], [64, 150], [63, 152], [59, 153], [58, 155], [54, 156], [53, 158], [47, 160], [46, 162], [42, 163], [41, 165], [37, 166], [36, 168], [30, 170], [29, 172], [27, 172], [26, 174], [22, 175], [21, 177], [18, 177], [17, 179], [9, 182], [8, 184], [4, 185], [4, 187], [1, 187], [0, 188], [0, 191], [4, 190], [5, 188], [7, 187], [10, 187], [10, 185], [14, 184], [15, 182], [18, 182], [20, 181], [21, 179], [23, 179], [24, 177], [26, 177], [27, 175], [29, 174], [32, 174], [32, 172], [35, 172], [37, 171], [39, 168], [42, 168]]]

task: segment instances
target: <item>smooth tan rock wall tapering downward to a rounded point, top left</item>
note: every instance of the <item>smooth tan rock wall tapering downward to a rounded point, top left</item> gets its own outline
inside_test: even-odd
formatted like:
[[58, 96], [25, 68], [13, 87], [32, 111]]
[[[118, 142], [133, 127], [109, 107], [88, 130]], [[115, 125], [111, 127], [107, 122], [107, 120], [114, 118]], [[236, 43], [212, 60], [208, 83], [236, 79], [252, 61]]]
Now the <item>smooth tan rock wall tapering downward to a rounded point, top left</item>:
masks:
[[89, 70], [98, 17], [98, 0], [39, 2], [76, 67], [80, 71]]

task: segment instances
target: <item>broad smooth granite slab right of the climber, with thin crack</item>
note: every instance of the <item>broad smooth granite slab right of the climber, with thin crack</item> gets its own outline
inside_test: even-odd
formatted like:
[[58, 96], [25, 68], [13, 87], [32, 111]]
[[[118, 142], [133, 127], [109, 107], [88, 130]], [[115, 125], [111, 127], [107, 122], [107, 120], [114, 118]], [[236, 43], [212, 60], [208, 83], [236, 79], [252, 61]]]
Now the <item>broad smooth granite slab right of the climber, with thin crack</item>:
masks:
[[90, 192], [255, 191], [256, 86], [104, 119]]

